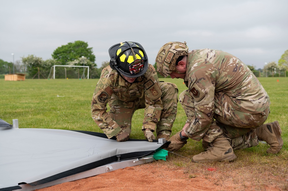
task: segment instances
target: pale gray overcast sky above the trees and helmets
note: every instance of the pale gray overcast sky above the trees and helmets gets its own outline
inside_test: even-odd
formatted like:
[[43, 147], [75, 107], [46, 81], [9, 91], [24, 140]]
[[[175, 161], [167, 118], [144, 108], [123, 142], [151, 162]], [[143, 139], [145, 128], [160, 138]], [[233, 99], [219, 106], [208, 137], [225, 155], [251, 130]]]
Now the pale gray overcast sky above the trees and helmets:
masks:
[[154, 64], [167, 42], [218, 49], [256, 69], [288, 49], [287, 0], [0, 0], [0, 59], [52, 58], [61, 45], [82, 40], [98, 67], [117, 43], [140, 43]]

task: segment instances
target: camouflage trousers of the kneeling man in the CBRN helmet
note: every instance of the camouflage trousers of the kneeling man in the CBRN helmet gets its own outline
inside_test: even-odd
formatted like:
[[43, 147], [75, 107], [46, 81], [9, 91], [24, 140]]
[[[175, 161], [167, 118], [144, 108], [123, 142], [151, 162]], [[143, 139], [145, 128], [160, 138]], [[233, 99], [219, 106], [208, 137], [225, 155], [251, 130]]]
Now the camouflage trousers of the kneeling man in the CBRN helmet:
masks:
[[[224, 135], [231, 139], [231, 146], [234, 150], [257, 146], [256, 128], [266, 121], [270, 113], [269, 107], [259, 113], [245, 113], [234, 108], [229, 103], [229, 99], [230, 97], [224, 93], [215, 93], [213, 120], [206, 133], [201, 134], [201, 138], [212, 142], [215, 138]], [[195, 120], [193, 97], [188, 91], [183, 91], [179, 96], [179, 101], [187, 115], [186, 122], [193, 122]], [[200, 136], [200, 134], [196, 134], [196, 136]], [[195, 137], [196, 140], [199, 138]]]

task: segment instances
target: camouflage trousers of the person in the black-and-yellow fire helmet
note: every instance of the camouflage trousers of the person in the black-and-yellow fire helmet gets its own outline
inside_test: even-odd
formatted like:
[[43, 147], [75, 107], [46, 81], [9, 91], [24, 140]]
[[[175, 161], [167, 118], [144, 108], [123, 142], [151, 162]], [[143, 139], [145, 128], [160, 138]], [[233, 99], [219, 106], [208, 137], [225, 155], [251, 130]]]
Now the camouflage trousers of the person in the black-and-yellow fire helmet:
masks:
[[[175, 84], [168, 82], [160, 82], [160, 87], [162, 91], [161, 100], [163, 109], [156, 125], [156, 134], [157, 136], [161, 134], [170, 136], [177, 115], [178, 89]], [[129, 134], [131, 133], [131, 121], [134, 112], [137, 109], [145, 108], [145, 97], [142, 99], [135, 99], [132, 102], [132, 106], [128, 106], [129, 104], [120, 100], [110, 100], [109, 102], [109, 114], [111, 118], [122, 128], [122, 130], [127, 131]], [[112, 104], [110, 105], [110, 103]], [[145, 129], [144, 126], [142, 127], [142, 130], [143, 129]], [[155, 129], [152, 130], [154, 131]]]

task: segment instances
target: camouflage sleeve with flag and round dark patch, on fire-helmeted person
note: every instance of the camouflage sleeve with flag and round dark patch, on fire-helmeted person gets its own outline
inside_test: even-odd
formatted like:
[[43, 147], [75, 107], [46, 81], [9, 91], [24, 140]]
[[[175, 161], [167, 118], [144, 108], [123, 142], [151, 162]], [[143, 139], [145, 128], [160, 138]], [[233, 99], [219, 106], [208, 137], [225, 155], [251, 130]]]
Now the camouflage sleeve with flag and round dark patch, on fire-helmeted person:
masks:
[[113, 94], [111, 80], [107, 78], [108, 74], [109, 72], [104, 68], [92, 97], [91, 114], [95, 123], [108, 138], [111, 138], [117, 135], [121, 131], [121, 128], [112, 120], [109, 113], [106, 112], [107, 103]]

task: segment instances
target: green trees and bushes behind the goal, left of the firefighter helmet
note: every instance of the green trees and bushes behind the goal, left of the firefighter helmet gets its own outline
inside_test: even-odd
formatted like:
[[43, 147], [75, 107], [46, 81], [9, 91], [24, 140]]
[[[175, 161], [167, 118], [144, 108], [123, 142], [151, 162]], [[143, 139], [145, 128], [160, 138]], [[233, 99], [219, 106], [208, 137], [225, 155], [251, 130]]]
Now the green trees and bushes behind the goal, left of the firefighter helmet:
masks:
[[[21, 61], [16, 61], [14, 67], [15, 73], [24, 73], [26, 74], [26, 78], [35, 78], [38, 72], [41, 73], [41, 75], [39, 75], [40, 78], [52, 78], [51, 72], [53, 71], [51, 70], [53, 70], [53, 65], [89, 66], [89, 78], [100, 78], [101, 71], [109, 65], [109, 62], [103, 62], [101, 67], [97, 68], [95, 59], [96, 57], [92, 48], [88, 47], [88, 43], [77, 40], [55, 49], [52, 53], [52, 59], [43, 60], [41, 57], [28, 55], [27, 57], [21, 57]], [[65, 78], [66, 73], [69, 78], [79, 78], [79, 73], [82, 72], [87, 74], [87, 70], [85, 71], [84, 68], [78, 67], [67, 67], [65, 68], [64, 74], [64, 68], [65, 67], [57, 68], [55, 78]], [[4, 78], [4, 74], [12, 73], [13, 63], [0, 59], [0, 77]]]

